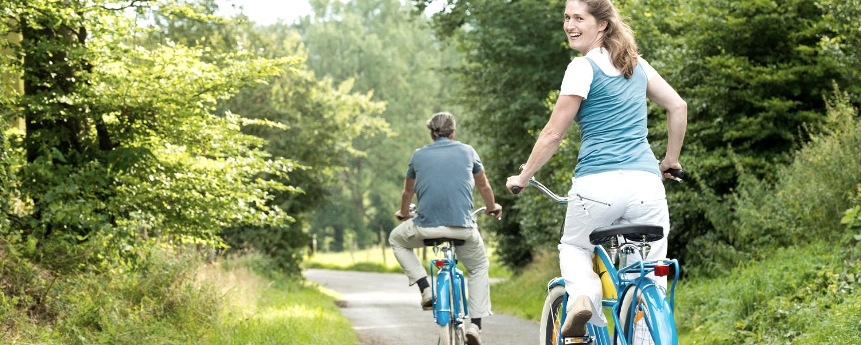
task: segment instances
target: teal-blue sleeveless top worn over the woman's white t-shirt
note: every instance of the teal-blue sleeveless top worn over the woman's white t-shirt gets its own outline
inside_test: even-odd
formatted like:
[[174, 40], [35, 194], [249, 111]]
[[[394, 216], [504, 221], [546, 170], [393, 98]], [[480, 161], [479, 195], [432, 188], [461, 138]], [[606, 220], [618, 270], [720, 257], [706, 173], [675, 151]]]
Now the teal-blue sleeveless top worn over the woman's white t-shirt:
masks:
[[660, 176], [658, 160], [648, 144], [646, 86], [641, 65], [634, 75], [608, 76], [592, 59], [594, 77], [589, 96], [574, 121], [580, 127], [580, 151], [574, 176], [614, 170], [644, 170]]

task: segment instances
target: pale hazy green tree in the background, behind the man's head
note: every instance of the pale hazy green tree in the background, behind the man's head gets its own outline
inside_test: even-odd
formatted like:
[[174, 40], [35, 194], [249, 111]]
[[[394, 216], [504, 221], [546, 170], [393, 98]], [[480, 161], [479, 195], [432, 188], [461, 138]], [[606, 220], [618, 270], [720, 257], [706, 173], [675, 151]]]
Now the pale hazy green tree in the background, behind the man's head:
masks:
[[[331, 190], [335, 198], [350, 200], [349, 208], [332, 212], [357, 217], [317, 217], [326, 221], [314, 226], [334, 230], [334, 250], [342, 248], [342, 231], [356, 232], [358, 244], [368, 245], [380, 229], [395, 225], [406, 163], [413, 150], [430, 144], [424, 120], [443, 110], [460, 115], [447, 103], [452, 83], [440, 71], [458, 55], [439, 45], [426, 17], [412, 16], [398, 0], [319, 1], [312, 7], [313, 15], [297, 26], [308, 66], [337, 83], [351, 80], [357, 91], [373, 92], [374, 100], [386, 103], [381, 115], [392, 132], [356, 137], [354, 147], [365, 154], [350, 160], [339, 172], [342, 186]], [[349, 223], [332, 225], [334, 219]]]

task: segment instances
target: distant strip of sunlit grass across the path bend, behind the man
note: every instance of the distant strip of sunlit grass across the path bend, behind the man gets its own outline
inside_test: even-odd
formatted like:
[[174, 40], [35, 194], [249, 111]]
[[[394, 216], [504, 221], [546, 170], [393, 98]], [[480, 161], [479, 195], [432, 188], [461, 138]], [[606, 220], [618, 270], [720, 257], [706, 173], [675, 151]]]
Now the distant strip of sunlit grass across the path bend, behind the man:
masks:
[[[490, 260], [490, 272], [489, 275], [492, 278], [508, 278], [511, 276], [511, 271], [505, 268], [502, 264], [499, 263], [497, 257], [494, 256], [493, 250], [488, 247], [487, 249], [487, 257]], [[422, 258], [426, 256], [426, 259], [423, 260], [422, 266], [424, 268], [429, 268], [431, 264], [431, 260], [442, 257], [441, 255], [434, 255], [433, 250], [431, 248], [427, 249], [426, 254], [422, 253], [422, 250], [416, 250], [418, 253], [418, 257]], [[394, 258], [394, 253], [392, 248], [386, 247], [385, 256], [383, 255], [383, 250], [380, 248], [374, 248], [369, 250], [355, 250], [355, 251], [343, 251], [338, 253], [324, 253], [318, 252], [308, 258], [305, 262], [302, 263], [303, 268], [326, 268], [326, 269], [341, 269], [341, 270], [350, 270], [350, 271], [363, 271], [363, 272], [388, 272], [388, 273], [403, 273], [404, 271], [400, 268], [397, 259]], [[458, 263], [458, 268], [466, 271], [463, 268], [461, 263]], [[469, 273], [467, 272], [467, 275]]]

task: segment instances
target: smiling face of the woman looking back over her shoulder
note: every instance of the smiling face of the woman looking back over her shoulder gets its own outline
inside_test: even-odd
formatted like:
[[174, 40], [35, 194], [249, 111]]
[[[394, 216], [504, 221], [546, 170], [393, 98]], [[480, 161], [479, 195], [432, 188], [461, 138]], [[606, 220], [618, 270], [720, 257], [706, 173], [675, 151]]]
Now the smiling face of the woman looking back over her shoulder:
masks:
[[585, 2], [569, 0], [565, 5], [565, 34], [568, 45], [581, 54], [601, 46], [604, 41], [604, 29], [607, 22], [598, 22], [589, 13]]

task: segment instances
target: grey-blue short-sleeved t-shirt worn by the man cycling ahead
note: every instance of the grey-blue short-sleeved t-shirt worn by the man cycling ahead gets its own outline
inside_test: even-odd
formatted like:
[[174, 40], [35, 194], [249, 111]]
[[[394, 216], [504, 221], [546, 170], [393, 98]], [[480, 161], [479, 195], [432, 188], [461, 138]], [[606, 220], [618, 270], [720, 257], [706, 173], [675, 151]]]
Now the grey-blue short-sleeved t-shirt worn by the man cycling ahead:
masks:
[[448, 138], [412, 152], [406, 176], [416, 180], [418, 215], [413, 223], [422, 227], [473, 227], [473, 175], [482, 169], [473, 146]]

